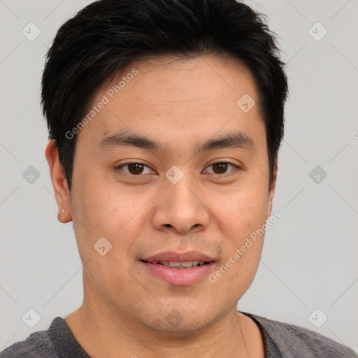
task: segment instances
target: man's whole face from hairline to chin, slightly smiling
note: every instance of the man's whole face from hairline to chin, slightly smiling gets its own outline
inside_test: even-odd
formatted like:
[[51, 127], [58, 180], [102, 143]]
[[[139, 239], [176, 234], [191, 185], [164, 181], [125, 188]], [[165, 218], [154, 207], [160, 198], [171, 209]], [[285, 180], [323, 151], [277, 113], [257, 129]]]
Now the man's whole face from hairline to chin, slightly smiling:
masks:
[[76, 134], [71, 194], [55, 187], [85, 264], [84, 303], [178, 333], [236, 309], [262, 253], [263, 236], [247, 239], [274, 187], [252, 99], [250, 71], [215, 56], [132, 62], [96, 92], [104, 104]]

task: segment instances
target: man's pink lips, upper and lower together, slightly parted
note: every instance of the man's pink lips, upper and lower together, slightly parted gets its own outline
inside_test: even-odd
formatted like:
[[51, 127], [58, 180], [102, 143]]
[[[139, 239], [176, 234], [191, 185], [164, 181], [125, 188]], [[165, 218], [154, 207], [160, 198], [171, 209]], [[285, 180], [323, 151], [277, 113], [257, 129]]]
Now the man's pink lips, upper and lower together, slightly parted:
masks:
[[[152, 264], [158, 261], [205, 261], [208, 264], [202, 266], [195, 266], [190, 268], [176, 268], [164, 266], [162, 264]], [[199, 251], [191, 251], [185, 253], [178, 253], [173, 251], [161, 252], [147, 259], [142, 259], [141, 263], [148, 269], [151, 275], [160, 278], [171, 285], [193, 285], [202, 278], [206, 277], [215, 266], [215, 260]]]

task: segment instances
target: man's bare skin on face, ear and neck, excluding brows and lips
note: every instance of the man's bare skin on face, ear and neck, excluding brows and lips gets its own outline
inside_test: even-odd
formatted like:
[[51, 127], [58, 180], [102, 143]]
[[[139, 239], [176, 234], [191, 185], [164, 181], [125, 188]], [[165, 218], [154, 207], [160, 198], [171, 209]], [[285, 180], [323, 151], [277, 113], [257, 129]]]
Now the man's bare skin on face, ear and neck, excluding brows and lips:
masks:
[[[264, 357], [257, 324], [236, 312], [255, 277], [263, 236], [215, 283], [205, 277], [170, 285], [140, 261], [165, 250], [198, 250], [215, 258], [215, 272], [271, 215], [277, 166], [268, 188], [259, 106], [244, 113], [236, 105], [243, 94], [258, 103], [252, 74], [237, 59], [214, 55], [141, 59], [99, 89], [94, 103], [133, 68], [138, 74], [77, 134], [71, 192], [54, 143], [46, 148], [59, 221], [73, 221], [85, 265], [83, 305], [66, 322], [94, 358]], [[164, 150], [99, 147], [123, 129]], [[255, 147], [194, 154], [198, 144], [238, 130]], [[148, 167], [139, 175], [118, 168], [133, 162]], [[217, 162], [241, 169], [217, 173]], [[184, 173], [177, 184], [164, 176], [173, 165]], [[103, 236], [113, 245], [105, 256], [93, 248]], [[182, 317], [177, 327], [166, 320], [173, 309]]]

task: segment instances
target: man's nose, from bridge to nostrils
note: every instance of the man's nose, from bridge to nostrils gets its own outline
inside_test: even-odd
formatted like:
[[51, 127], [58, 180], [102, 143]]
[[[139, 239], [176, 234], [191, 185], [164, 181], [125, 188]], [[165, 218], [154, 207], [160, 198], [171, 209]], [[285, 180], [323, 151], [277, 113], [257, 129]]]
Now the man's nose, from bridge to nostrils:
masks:
[[152, 225], [157, 230], [176, 234], [199, 232], [210, 222], [210, 210], [204, 202], [198, 185], [184, 176], [173, 184], [164, 180], [164, 187], [155, 198]]

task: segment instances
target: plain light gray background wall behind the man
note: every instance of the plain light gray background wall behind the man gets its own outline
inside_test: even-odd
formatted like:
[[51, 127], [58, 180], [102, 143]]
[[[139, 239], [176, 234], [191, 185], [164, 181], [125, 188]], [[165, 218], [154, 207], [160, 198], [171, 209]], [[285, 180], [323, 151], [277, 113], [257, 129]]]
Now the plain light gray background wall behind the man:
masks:
[[[266, 233], [238, 308], [358, 350], [358, 2], [246, 2], [279, 36], [290, 98], [273, 206], [282, 217]], [[57, 222], [39, 92], [59, 25], [87, 3], [0, 0], [0, 350], [82, 302], [72, 225]], [[34, 41], [22, 34], [29, 22], [41, 29]], [[328, 30], [320, 41], [308, 32], [316, 22]], [[311, 31], [322, 34], [317, 25]], [[327, 172], [320, 183], [308, 176], [317, 165]], [[41, 174], [32, 184], [22, 177], [29, 166]], [[33, 329], [21, 320], [29, 308], [41, 315]], [[316, 308], [328, 317], [320, 328], [308, 320]]]

